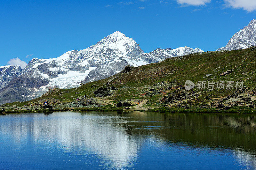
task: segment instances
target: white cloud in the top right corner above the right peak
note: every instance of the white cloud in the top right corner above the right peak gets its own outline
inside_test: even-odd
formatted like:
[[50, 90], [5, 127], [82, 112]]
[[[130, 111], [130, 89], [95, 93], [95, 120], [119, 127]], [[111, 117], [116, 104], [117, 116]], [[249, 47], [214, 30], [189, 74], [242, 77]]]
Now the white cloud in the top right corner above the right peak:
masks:
[[256, 10], [256, 0], [224, 0], [232, 8], [243, 8], [248, 12]]

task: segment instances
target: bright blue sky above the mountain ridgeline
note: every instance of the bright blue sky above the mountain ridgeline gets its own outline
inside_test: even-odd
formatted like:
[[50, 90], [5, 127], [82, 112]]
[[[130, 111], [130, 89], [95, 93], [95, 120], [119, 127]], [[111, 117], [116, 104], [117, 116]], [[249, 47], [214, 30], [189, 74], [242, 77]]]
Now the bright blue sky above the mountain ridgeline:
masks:
[[1, 1], [0, 66], [85, 49], [117, 30], [144, 52], [216, 50], [255, 9], [255, 0]]

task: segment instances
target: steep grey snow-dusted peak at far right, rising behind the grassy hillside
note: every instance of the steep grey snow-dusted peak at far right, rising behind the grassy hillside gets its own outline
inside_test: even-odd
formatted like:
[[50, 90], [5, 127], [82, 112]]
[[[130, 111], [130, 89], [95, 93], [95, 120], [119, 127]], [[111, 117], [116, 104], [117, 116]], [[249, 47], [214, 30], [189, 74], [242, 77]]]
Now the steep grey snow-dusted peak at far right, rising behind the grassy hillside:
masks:
[[245, 49], [256, 45], [256, 20], [253, 19], [248, 26], [235, 33], [225, 47], [220, 50]]

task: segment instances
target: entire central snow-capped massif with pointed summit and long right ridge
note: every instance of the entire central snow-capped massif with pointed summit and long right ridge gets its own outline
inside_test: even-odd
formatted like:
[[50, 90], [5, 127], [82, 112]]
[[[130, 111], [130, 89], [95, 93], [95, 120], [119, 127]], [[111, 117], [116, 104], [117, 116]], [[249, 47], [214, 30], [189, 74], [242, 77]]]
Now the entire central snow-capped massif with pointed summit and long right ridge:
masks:
[[51, 59], [34, 58], [18, 78], [0, 90], [0, 103], [31, 100], [49, 88], [73, 88], [81, 82], [107, 78], [128, 64], [140, 66], [196, 52], [203, 51], [189, 47], [158, 48], [145, 54], [133, 39], [116, 31], [83, 50], [71, 50]]

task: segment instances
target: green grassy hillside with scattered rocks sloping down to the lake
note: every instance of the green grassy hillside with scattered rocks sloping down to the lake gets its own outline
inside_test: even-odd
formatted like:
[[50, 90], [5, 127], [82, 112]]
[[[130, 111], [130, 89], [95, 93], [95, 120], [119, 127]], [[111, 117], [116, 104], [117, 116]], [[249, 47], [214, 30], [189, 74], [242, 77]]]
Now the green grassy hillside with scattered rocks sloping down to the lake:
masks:
[[[153, 63], [140, 67], [132, 67], [129, 72], [122, 71], [112, 77], [90, 82], [73, 89], [51, 89], [40, 98], [6, 104], [3, 107], [28, 110], [39, 107], [44, 100], [50, 101], [54, 108], [105, 108], [116, 109], [116, 103], [123, 100], [133, 102], [142, 101], [143, 108], [169, 111], [212, 111], [212, 112], [255, 112], [256, 89], [256, 50], [248, 48], [234, 51], [217, 51], [173, 57], [161, 63]], [[226, 76], [220, 76], [227, 70], [234, 70]], [[211, 76], [205, 77], [207, 74]], [[205, 77], [205, 78], [204, 78]], [[244, 81], [244, 89], [198, 90], [187, 91], [185, 81]], [[118, 90], [107, 97], [94, 97], [98, 88], [115, 86]], [[101, 102], [79, 107], [76, 98], [87, 95], [86, 102]], [[226, 98], [225, 98], [226, 97]], [[93, 101], [92, 101], [93, 100]], [[73, 105], [67, 105], [68, 103]], [[80, 103], [81, 104], [81, 103]], [[97, 105], [97, 106], [96, 106]], [[223, 105], [223, 107], [222, 107]], [[73, 106], [73, 107], [72, 107]], [[95, 107], [92, 107], [95, 106]], [[126, 107], [120, 107], [124, 109]], [[128, 107], [126, 109], [132, 109]], [[10, 108], [9, 108], [10, 109]]]

